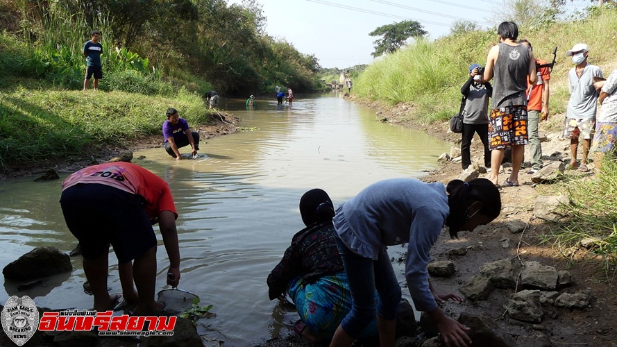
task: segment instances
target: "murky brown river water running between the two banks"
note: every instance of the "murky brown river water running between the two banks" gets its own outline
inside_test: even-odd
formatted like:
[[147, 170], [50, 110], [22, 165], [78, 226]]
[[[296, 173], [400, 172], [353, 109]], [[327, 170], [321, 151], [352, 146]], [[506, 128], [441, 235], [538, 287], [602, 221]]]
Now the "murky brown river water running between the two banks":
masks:
[[[258, 344], [298, 319], [289, 307], [269, 301], [266, 278], [291, 236], [303, 228], [298, 202], [304, 192], [322, 188], [338, 205], [375, 181], [423, 176], [449, 147], [418, 131], [382, 124], [374, 110], [335, 94], [296, 99], [282, 107], [276, 100], [257, 101], [260, 105], [252, 110], [246, 110], [244, 100], [225, 100], [223, 108], [241, 117], [242, 126], [255, 129], [208, 139], [200, 144], [207, 157], [176, 162], [164, 149], [134, 153], [135, 158], [146, 157], [135, 163], [171, 187], [180, 214], [179, 288], [200, 296], [202, 305], [214, 305], [217, 317], [200, 321], [200, 331], [226, 346]], [[60, 181], [0, 183], [0, 266], [35, 246], [66, 252], [74, 248], [76, 239], [62, 219], [59, 196]], [[165, 288], [169, 263], [155, 230], [159, 290]], [[398, 258], [404, 251], [393, 247], [390, 255]], [[5, 282], [0, 303], [12, 295], [28, 295], [53, 309], [91, 307], [92, 297], [83, 292], [81, 258], [72, 262], [72, 273], [27, 291]], [[120, 291], [116, 263], [110, 254], [112, 292]], [[404, 282], [403, 267], [396, 266]], [[409, 296], [405, 290], [403, 294]]]

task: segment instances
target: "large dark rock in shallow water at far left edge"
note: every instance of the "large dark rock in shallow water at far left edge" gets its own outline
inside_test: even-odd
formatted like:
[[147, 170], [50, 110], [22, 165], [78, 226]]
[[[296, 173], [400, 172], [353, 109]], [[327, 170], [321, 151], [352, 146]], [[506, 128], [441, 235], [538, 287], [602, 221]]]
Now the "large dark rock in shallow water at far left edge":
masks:
[[37, 247], [4, 266], [2, 273], [9, 280], [35, 280], [71, 271], [71, 258], [54, 247]]

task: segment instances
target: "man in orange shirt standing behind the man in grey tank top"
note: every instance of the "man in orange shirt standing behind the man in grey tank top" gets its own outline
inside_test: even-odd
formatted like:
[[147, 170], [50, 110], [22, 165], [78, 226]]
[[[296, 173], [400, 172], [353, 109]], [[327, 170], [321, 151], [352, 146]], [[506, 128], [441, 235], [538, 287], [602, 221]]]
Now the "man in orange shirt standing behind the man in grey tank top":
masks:
[[[534, 51], [531, 42], [523, 39], [521, 44]], [[536, 65], [546, 65], [546, 61], [536, 59]], [[541, 67], [537, 71], [538, 81], [529, 83], [527, 78], [527, 128], [529, 129], [529, 153], [531, 156], [532, 169], [527, 175], [533, 175], [542, 169], [542, 145], [540, 144], [539, 124], [540, 120], [548, 119], [548, 98], [550, 71], [548, 67]]]

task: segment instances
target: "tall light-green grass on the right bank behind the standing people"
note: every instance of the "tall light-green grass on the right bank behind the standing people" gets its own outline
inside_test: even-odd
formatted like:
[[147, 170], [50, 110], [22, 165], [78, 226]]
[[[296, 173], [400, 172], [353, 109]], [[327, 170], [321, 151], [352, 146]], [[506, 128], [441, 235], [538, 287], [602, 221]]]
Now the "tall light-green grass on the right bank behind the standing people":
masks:
[[[574, 44], [589, 45], [589, 62], [605, 75], [617, 65], [617, 9], [592, 8], [586, 19], [559, 22], [534, 30], [519, 28], [519, 38], [534, 46], [536, 58], [551, 61], [558, 46], [550, 81], [552, 115], [565, 112], [568, 99], [568, 70], [573, 67], [566, 50]], [[354, 94], [384, 103], [413, 103], [411, 117], [421, 121], [444, 121], [457, 112], [460, 87], [473, 63], [482, 66], [497, 43], [495, 29], [471, 31], [442, 37], [434, 42], [419, 40], [396, 53], [375, 60], [354, 81]]]

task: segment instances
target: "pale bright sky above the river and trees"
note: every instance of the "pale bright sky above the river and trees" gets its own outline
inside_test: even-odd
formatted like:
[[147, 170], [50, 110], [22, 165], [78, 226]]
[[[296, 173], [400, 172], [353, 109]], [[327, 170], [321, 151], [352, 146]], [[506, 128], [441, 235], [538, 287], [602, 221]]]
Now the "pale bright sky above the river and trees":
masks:
[[[420, 22], [431, 39], [450, 33], [457, 19], [493, 26], [503, 0], [258, 0], [267, 17], [266, 32], [285, 39], [301, 53], [314, 54], [321, 67], [345, 69], [370, 64], [375, 50], [369, 36], [379, 26], [403, 20]], [[228, 0], [227, 3], [241, 3]], [[568, 11], [589, 0], [568, 0]]]

